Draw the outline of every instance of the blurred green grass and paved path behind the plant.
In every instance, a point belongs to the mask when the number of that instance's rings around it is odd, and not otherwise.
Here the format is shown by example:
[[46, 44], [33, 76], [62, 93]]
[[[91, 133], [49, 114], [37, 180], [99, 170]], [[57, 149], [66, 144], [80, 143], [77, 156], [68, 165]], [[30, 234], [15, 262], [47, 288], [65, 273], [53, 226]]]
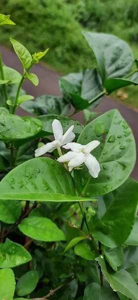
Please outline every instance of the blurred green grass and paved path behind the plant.
[[[24, 85], [27, 93], [35, 97], [60, 95], [59, 73], [96, 66], [82, 30], [117, 35], [130, 44], [138, 58], [138, 0], [0, 0], [0, 13], [10, 14], [16, 23], [16, 26], [0, 26], [0, 50], [5, 64], [21, 71], [18, 58], [8, 50], [12, 48], [9, 36], [23, 43], [31, 53], [50, 48], [43, 63], [32, 69], [40, 84]], [[138, 87], [129, 86], [112, 93], [95, 110], [105, 112], [112, 108], [118, 108], [126, 118], [138, 144]], [[81, 114], [74, 118], [82, 121]], [[138, 179], [137, 173], [135, 168], [133, 176]]]

